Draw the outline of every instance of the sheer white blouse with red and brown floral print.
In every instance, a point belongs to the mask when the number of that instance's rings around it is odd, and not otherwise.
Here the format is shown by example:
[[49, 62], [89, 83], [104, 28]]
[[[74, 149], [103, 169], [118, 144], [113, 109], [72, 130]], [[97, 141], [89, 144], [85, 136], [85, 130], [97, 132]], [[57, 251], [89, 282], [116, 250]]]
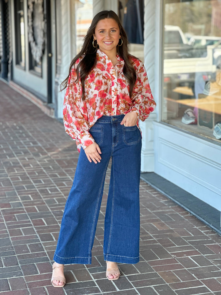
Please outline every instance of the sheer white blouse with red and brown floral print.
[[80, 79], [74, 84], [76, 67], [83, 56], [72, 67], [64, 97], [65, 131], [76, 140], [78, 151], [81, 146], [86, 148], [95, 142], [89, 129], [101, 116], [116, 116], [134, 111], [138, 121], [144, 121], [156, 107], [144, 65], [138, 58], [131, 56], [137, 80], [130, 98], [130, 86], [123, 74], [124, 60], [117, 55], [118, 64], [113, 66], [100, 49], [97, 49], [96, 56], [97, 64], [85, 80], [85, 100], [81, 99]]

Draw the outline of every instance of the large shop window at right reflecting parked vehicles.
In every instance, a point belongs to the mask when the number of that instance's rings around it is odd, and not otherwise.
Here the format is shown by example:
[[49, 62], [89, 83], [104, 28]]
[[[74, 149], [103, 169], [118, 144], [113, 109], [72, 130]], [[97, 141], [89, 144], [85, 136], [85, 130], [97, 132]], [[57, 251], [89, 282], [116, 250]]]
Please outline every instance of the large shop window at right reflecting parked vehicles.
[[162, 120], [221, 141], [221, 2], [164, 0]]

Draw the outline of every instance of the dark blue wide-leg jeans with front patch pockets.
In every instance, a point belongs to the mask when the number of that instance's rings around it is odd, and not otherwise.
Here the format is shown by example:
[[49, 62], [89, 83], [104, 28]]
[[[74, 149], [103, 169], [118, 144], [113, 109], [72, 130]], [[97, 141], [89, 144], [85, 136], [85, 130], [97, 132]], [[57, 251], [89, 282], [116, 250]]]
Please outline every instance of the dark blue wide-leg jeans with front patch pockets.
[[101, 161], [90, 163], [81, 148], [73, 186], [61, 222], [54, 261], [91, 264], [91, 249], [112, 157], [104, 225], [104, 260], [139, 262], [139, 183], [141, 133], [137, 126], [120, 125], [124, 115], [102, 116], [90, 128], [101, 149]]

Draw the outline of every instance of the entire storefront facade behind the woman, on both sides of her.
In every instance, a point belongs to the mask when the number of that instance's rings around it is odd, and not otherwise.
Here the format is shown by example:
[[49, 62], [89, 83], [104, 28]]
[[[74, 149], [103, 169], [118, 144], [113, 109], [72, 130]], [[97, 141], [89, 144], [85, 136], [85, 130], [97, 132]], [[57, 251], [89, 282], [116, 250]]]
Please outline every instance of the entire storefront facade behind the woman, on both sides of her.
[[0, 75], [56, 118], [62, 118], [60, 83], [93, 15], [114, 10], [130, 52], [144, 61], [157, 102], [140, 122], [141, 170], [221, 211], [219, 0], [0, 2]]

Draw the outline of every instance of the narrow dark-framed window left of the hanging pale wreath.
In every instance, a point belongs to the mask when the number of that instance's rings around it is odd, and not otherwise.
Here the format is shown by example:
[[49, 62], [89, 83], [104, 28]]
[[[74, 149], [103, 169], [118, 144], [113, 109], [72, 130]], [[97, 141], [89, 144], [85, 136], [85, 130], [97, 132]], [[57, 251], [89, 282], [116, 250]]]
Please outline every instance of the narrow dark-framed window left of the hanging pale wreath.
[[16, 64], [25, 68], [25, 26], [23, 0], [15, 0]]

